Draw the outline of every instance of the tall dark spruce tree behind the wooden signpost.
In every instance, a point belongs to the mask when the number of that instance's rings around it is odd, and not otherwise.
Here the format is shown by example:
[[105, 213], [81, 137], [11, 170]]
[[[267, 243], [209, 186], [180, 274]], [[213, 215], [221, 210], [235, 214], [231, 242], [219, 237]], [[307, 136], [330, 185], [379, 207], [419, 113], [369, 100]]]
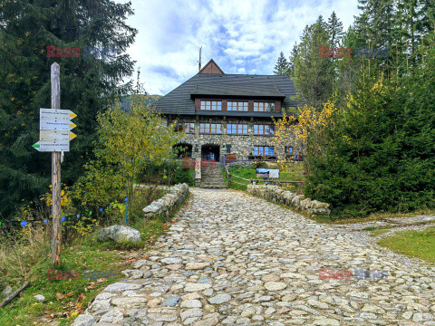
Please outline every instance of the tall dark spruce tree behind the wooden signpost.
[[[125, 23], [130, 3], [5, 0], [1, 9], [0, 216], [6, 217], [22, 200], [37, 200], [49, 190], [51, 156], [32, 145], [39, 139], [39, 109], [51, 103], [51, 64], [61, 65], [61, 108], [78, 115], [78, 137], [62, 167], [62, 182], [71, 185], [92, 156], [97, 113], [131, 89], [121, 82], [133, 72], [126, 51], [137, 31]], [[55, 53], [63, 57], [48, 57], [47, 46], [62, 49]], [[80, 48], [80, 56], [72, 48]], [[100, 51], [88, 51], [94, 48]], [[116, 56], [102, 49], [116, 49]]]

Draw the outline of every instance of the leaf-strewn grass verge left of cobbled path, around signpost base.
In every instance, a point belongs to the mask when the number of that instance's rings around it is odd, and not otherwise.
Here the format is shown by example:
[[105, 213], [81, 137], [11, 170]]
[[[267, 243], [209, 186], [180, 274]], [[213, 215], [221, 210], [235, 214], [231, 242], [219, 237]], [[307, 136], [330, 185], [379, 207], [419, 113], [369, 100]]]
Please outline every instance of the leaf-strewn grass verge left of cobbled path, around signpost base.
[[[24, 283], [23, 279], [31, 281], [31, 285], [13, 302], [0, 309], [0, 325], [46, 325], [49, 321], [59, 321], [62, 326], [70, 325], [79, 313], [86, 310], [102, 288], [123, 279], [125, 276], [121, 271], [129, 269], [132, 262], [145, 256], [146, 250], [167, 231], [170, 219], [171, 217], [169, 219], [156, 217], [131, 225], [140, 231], [142, 241], [139, 244], [98, 243], [97, 232], [93, 232], [76, 239], [73, 245], [65, 246], [62, 253], [62, 267], [59, 268], [61, 273], [56, 273], [58, 276], [66, 276], [65, 271], [78, 271], [78, 279], [68, 280], [67, 278], [70, 277], [65, 277], [64, 280], [49, 280], [47, 270], [53, 269], [53, 266], [47, 254], [43, 254], [43, 258], [32, 265], [25, 275], [22, 271], [21, 274], [20, 271], [14, 271], [13, 266], [5, 268], [2, 271], [7, 275], [0, 275], [0, 278], [3, 278], [4, 285], [9, 283], [13, 291]], [[41, 250], [49, 253], [48, 246], [49, 243]], [[129, 253], [129, 250], [135, 252]], [[4, 253], [7, 252], [5, 250], [0, 252], [2, 262], [7, 259]], [[83, 270], [106, 273], [113, 271], [116, 279], [114, 277], [110, 277], [109, 280], [85, 279]], [[17, 280], [14, 283], [11, 282], [13, 276]], [[45, 302], [37, 302], [34, 298], [35, 294], [43, 294]]]

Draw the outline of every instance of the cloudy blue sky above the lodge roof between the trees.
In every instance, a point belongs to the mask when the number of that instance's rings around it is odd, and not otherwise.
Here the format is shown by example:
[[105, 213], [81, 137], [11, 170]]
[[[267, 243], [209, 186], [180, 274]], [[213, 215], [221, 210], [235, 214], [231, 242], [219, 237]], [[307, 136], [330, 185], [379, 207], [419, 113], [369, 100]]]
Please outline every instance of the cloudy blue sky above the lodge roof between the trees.
[[[125, 0], [116, 0], [125, 3]], [[139, 30], [129, 53], [151, 94], [165, 95], [214, 59], [226, 73], [273, 74], [306, 24], [333, 11], [346, 29], [356, 0], [131, 0], [127, 23]], [[135, 75], [136, 76], [136, 75]]]

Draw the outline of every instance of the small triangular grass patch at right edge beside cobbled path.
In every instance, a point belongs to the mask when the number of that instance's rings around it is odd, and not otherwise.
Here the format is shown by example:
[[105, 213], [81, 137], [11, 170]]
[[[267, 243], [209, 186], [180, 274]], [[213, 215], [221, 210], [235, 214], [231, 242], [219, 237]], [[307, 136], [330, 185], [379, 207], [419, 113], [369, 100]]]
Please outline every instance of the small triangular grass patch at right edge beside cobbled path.
[[435, 227], [422, 231], [404, 231], [379, 241], [392, 251], [435, 263]]

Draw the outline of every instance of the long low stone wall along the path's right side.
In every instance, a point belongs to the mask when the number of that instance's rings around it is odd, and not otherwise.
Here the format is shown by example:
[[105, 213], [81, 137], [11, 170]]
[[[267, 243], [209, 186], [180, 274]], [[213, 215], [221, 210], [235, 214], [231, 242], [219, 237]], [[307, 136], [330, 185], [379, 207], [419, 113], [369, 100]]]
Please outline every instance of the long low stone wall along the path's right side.
[[304, 195], [297, 195], [277, 186], [270, 185], [248, 185], [247, 192], [253, 196], [267, 199], [275, 204], [293, 206], [296, 209], [304, 210], [310, 216], [329, 216], [331, 210], [329, 204], [305, 198]]

